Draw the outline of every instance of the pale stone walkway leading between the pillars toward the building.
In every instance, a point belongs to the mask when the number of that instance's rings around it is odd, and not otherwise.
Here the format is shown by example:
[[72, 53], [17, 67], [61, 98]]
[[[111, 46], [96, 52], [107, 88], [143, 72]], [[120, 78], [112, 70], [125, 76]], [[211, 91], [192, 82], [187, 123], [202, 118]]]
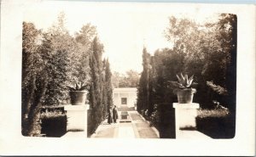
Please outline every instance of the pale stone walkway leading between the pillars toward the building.
[[131, 122], [119, 120], [118, 123], [109, 125], [106, 120], [102, 123], [102, 125], [98, 126], [96, 133], [91, 137], [159, 138], [156, 129], [154, 129], [154, 127], [150, 127], [148, 122], [144, 121], [143, 117], [139, 115], [137, 111], [128, 111], [128, 114], [128, 119]]

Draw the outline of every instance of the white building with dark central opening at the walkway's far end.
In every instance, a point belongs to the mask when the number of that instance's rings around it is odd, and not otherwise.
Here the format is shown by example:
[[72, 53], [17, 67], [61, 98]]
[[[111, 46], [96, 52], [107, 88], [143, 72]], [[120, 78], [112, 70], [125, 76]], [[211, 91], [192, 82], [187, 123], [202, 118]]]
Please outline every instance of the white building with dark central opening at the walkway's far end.
[[135, 107], [137, 104], [137, 88], [136, 87], [120, 87], [113, 89], [113, 105], [118, 108]]

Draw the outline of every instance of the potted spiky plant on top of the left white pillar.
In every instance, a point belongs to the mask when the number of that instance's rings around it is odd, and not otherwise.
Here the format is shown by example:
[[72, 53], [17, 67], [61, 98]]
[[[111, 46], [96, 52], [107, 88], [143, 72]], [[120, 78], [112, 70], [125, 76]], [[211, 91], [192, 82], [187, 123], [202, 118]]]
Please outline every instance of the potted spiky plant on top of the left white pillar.
[[69, 88], [70, 101], [73, 105], [85, 104], [87, 85], [81, 81], [76, 81], [73, 87], [67, 86]]

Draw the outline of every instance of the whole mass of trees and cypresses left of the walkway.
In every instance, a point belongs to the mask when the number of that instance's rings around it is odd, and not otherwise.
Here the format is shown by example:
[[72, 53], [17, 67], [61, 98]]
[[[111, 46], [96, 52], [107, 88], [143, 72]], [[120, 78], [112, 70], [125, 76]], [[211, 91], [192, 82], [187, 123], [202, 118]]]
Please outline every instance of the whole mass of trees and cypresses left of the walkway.
[[[44, 105], [69, 103], [67, 85], [74, 80], [90, 88], [87, 103], [92, 109], [94, 129], [112, 105], [111, 71], [102, 60], [103, 45], [94, 25], [83, 25], [75, 35], [65, 27], [65, 14], [47, 31], [23, 22], [22, 31], [22, 134], [38, 134], [39, 110]], [[90, 121], [90, 120], [89, 120]]]

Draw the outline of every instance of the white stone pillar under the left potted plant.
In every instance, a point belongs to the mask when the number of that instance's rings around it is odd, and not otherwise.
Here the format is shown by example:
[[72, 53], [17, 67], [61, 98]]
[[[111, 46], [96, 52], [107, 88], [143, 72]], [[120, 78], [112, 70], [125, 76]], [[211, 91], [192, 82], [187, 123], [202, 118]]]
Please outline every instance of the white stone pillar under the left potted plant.
[[83, 132], [87, 137], [87, 109], [89, 104], [65, 105], [67, 111], [67, 132]]

